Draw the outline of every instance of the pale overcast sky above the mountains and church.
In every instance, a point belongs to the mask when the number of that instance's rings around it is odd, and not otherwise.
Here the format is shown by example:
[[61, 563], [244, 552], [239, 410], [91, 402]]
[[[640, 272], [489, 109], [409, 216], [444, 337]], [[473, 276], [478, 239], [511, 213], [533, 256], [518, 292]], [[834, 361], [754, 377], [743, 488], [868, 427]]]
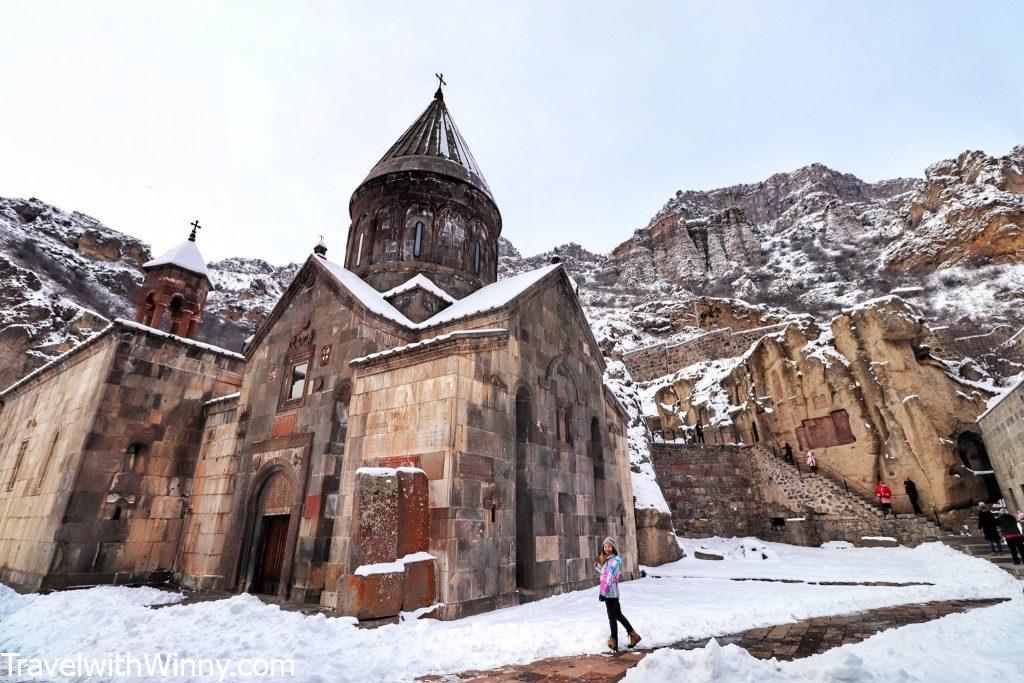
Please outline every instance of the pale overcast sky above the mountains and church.
[[0, 4], [0, 196], [285, 263], [445, 101], [523, 253], [607, 251], [677, 189], [867, 180], [1024, 143], [1024, 3]]

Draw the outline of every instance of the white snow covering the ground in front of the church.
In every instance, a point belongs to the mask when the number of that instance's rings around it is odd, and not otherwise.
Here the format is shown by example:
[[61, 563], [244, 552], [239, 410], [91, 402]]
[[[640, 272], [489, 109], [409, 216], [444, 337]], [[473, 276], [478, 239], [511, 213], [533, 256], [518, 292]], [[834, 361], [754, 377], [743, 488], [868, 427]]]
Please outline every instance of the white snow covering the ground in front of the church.
[[[946, 656], [945, 652], [952, 649], [949, 643], [957, 639], [956, 648], [962, 652], [972, 642], [982, 643], [987, 652], [985, 648], [994, 648], [1001, 641], [1020, 659], [1024, 649], [1019, 645], [1024, 628], [1020, 584], [984, 560], [939, 544], [911, 550], [853, 549], [842, 545], [797, 548], [753, 539], [682, 543], [689, 551], [703, 545], [722, 552], [726, 559], [687, 557], [652, 568], [651, 577], [623, 585], [624, 611], [647, 646], [900, 603], [1013, 597], [1005, 605], [906, 627], [895, 635], [882, 634], [861, 645], [840, 648], [843, 653], [825, 653], [805, 661], [828, 663], [831, 678], [849, 670], [870, 680], [867, 674], [876, 671], [878, 663], [854, 661], [845, 652], [871, 648], [865, 650], [869, 656], [893, 661], [899, 658], [899, 666], [909, 672], [926, 671], [926, 667], [932, 671], [933, 665], [925, 659]], [[763, 555], [768, 559], [762, 559]], [[731, 577], [935, 585], [819, 586], [734, 582], [728, 580]], [[46, 659], [78, 653], [95, 658], [117, 653], [172, 653], [221, 660], [281, 657], [294, 660], [295, 678], [287, 680], [384, 681], [600, 652], [607, 638], [607, 623], [596, 589], [456, 622], [420, 620], [372, 630], [357, 629], [347, 618], [282, 611], [250, 595], [160, 609], [147, 606], [175, 599], [174, 594], [154, 589], [100, 587], [23, 596], [0, 588], [0, 651]], [[934, 647], [931, 635], [919, 636], [904, 647], [904, 639], [898, 634], [910, 629], [914, 633], [934, 632]], [[989, 637], [988, 630], [994, 635]], [[872, 644], [877, 639], [882, 639], [883, 644]], [[885, 644], [890, 641], [892, 644]], [[902, 649], [893, 649], [896, 644]], [[770, 676], [807, 676], [811, 671], [807, 667], [813, 668], [806, 663], [776, 668], [749, 658], [744, 652], [718, 650], [715, 646], [693, 653], [655, 653], [633, 676], [665, 680], [666, 672], [678, 669], [686, 676], [763, 680]], [[1002, 669], [985, 673], [1005, 673], [1007, 667], [1016, 665], [999, 666]], [[978, 669], [969, 676], [982, 673]], [[672, 678], [680, 680], [682, 675]]]

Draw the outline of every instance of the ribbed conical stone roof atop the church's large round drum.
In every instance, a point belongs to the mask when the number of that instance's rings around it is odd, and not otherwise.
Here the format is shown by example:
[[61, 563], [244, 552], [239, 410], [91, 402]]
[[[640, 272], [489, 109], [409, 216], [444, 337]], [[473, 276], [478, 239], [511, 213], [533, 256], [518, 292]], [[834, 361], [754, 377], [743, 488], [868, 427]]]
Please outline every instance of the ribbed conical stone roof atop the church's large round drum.
[[476, 187], [492, 202], [495, 199], [439, 92], [359, 184], [401, 171], [447, 175]]

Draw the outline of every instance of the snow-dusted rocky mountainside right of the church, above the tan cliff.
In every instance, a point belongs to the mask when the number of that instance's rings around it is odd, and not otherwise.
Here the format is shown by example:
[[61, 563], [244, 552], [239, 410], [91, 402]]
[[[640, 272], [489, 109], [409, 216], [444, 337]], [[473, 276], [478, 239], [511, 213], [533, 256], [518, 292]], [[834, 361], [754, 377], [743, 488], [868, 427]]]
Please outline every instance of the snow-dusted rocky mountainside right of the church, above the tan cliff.
[[[932, 165], [924, 179], [868, 183], [813, 164], [759, 183], [681, 190], [608, 255], [579, 245], [525, 259], [506, 250], [501, 268], [517, 272], [560, 257], [606, 352], [685, 338], [679, 315], [668, 324], [664, 313], [700, 297], [824, 321], [897, 293], [943, 328], [945, 351], [985, 355], [976, 343], [955, 341], [1024, 327], [1022, 169], [1024, 145], [1001, 158], [966, 152]], [[1015, 372], [996, 362], [997, 352], [987, 354], [979, 360]]]

